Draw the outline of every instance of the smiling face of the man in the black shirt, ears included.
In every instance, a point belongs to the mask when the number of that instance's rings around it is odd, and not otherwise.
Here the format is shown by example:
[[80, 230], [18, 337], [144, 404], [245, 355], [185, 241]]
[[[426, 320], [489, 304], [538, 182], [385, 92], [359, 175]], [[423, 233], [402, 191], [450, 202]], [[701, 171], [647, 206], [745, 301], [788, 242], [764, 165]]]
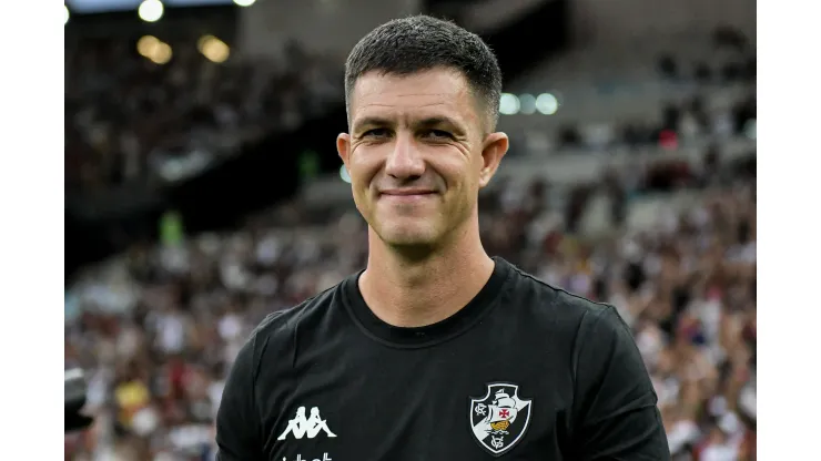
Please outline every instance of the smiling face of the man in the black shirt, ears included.
[[356, 207], [393, 246], [436, 246], [462, 228], [507, 151], [504, 133], [484, 135], [485, 112], [452, 70], [366, 73], [348, 116], [337, 151]]

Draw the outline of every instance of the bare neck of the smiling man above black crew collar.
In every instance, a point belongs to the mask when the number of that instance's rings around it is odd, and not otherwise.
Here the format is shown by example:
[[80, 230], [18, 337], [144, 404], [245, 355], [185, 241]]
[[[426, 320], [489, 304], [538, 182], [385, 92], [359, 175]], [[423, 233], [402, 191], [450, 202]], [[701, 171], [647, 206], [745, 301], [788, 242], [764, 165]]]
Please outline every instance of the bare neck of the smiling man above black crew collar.
[[442, 321], [465, 307], [485, 286], [494, 262], [482, 247], [478, 222], [457, 229], [444, 247], [408, 255], [368, 229], [367, 268], [359, 290], [371, 310], [395, 327]]

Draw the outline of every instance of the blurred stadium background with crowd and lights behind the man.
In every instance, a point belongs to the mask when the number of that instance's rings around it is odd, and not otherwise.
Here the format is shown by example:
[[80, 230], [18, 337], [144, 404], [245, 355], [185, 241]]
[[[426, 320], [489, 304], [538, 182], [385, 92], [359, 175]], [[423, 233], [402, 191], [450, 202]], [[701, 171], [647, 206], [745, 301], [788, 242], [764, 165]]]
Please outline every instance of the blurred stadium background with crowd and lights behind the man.
[[505, 74], [488, 253], [619, 309], [677, 459], [756, 458], [754, 0], [74, 0], [67, 460], [213, 459], [251, 328], [364, 267], [343, 62], [419, 12]]

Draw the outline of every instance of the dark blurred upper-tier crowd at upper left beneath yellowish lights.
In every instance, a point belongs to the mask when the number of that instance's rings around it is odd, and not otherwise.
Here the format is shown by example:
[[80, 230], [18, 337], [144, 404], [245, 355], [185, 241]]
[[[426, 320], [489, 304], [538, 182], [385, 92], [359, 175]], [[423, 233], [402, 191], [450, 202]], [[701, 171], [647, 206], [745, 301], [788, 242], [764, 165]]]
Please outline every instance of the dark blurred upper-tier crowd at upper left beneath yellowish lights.
[[180, 180], [316, 116], [342, 92], [338, 64], [296, 43], [284, 60], [231, 60], [213, 35], [199, 50], [181, 42], [94, 38], [65, 50], [67, 191]]

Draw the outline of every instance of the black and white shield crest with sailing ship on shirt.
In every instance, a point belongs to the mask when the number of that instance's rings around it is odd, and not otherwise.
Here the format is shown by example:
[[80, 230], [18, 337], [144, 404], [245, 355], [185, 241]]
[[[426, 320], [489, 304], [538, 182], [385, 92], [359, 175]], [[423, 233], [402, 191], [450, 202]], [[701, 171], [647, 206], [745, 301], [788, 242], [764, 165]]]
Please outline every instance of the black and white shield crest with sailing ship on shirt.
[[533, 400], [521, 400], [519, 387], [509, 383], [487, 385], [483, 398], [470, 399], [470, 426], [474, 437], [490, 454], [510, 450], [527, 431]]

